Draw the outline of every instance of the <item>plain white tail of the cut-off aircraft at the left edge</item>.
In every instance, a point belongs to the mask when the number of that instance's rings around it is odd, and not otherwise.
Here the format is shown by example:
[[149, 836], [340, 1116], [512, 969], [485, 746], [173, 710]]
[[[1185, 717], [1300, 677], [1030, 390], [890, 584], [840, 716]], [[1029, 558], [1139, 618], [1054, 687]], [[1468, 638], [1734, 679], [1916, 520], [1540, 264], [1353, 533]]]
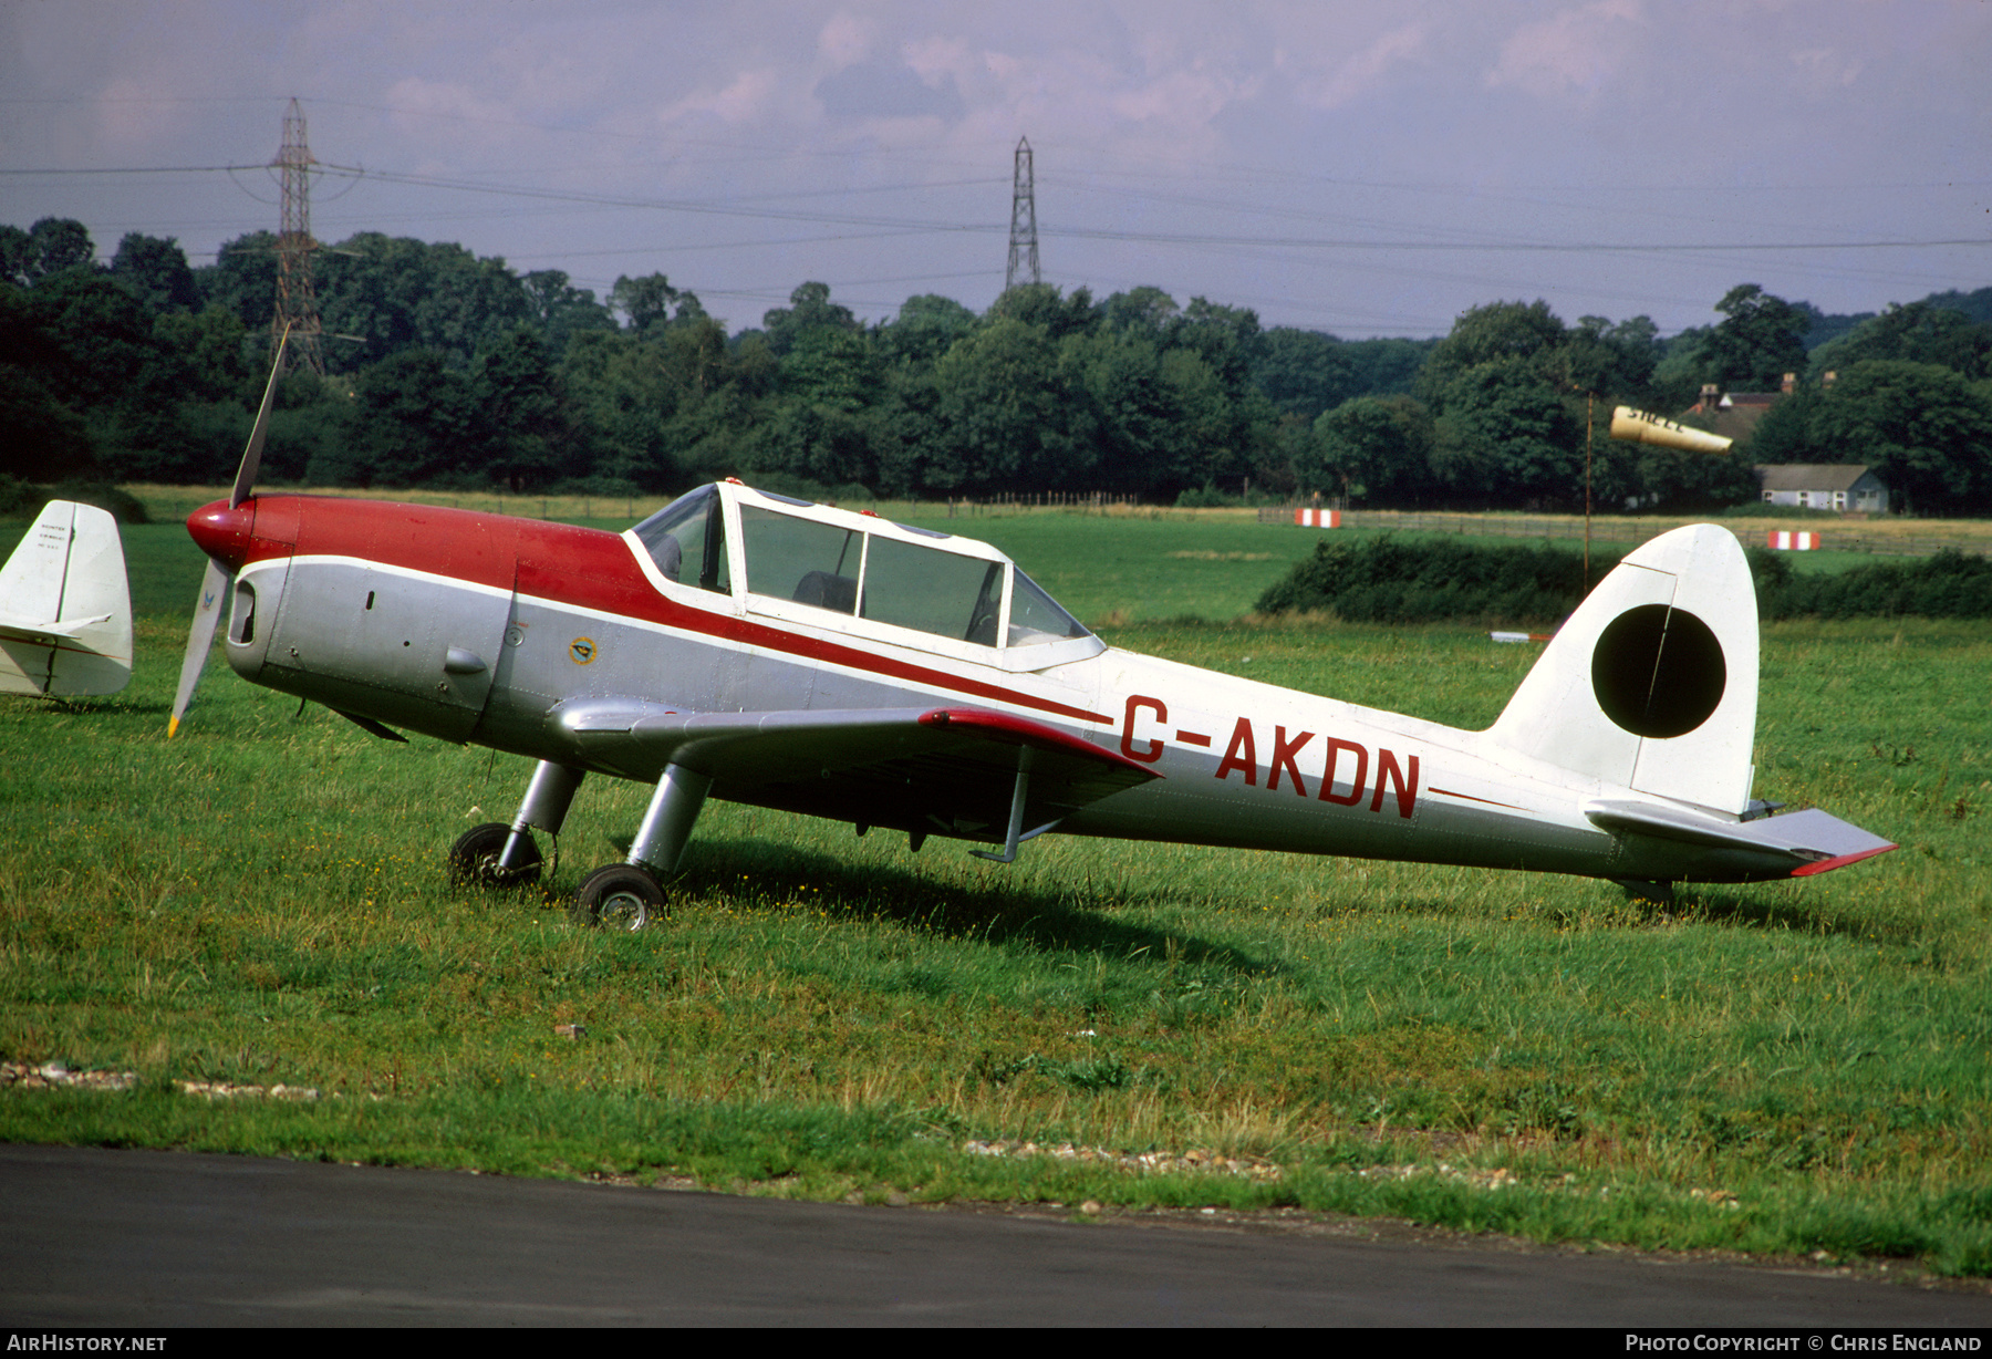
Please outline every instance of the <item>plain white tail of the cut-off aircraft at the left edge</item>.
[[131, 680], [118, 520], [50, 500], [0, 566], [0, 693], [116, 693]]

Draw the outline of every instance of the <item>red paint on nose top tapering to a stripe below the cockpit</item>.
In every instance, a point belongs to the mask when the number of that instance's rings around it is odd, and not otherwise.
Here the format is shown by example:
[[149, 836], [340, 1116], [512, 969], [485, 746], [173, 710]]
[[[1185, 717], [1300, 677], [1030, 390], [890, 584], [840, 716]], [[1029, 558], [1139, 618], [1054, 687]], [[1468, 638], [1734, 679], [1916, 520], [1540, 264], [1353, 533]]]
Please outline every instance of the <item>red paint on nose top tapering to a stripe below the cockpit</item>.
[[[572, 604], [683, 632], [699, 632], [767, 652], [785, 652], [801, 660], [849, 666], [952, 693], [972, 693], [1080, 721], [1112, 723], [1112, 717], [1090, 713], [1084, 707], [1070, 707], [1004, 685], [912, 666], [857, 646], [803, 638], [733, 614], [685, 608], [663, 598], [649, 584], [649, 578], [629, 556], [629, 544], [620, 534], [600, 528], [394, 500], [347, 500], [343, 496], [263, 496], [249, 504], [257, 506], [257, 532], [249, 546], [249, 562], [285, 556], [351, 556], [380, 566], [446, 576], [472, 586], [516, 590], [520, 596], [552, 604]], [[261, 532], [265, 516], [295, 534], [295, 550], [291, 544]]]

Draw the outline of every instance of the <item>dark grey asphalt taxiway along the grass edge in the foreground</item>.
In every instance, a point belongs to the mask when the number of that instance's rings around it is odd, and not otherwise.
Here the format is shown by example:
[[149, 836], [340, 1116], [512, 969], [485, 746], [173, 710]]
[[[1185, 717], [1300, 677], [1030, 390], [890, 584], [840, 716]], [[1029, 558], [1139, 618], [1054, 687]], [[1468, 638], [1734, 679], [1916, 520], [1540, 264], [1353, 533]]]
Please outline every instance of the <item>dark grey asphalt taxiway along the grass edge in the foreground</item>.
[[1992, 1327], [1831, 1271], [0, 1146], [0, 1325]]

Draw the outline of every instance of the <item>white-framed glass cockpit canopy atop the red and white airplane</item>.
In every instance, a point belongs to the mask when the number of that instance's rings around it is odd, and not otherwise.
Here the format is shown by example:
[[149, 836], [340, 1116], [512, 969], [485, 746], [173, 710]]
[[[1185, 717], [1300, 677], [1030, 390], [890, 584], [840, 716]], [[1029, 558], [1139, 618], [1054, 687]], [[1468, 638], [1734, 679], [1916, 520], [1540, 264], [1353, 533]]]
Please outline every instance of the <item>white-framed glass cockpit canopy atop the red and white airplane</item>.
[[1004, 670], [1106, 644], [996, 548], [741, 484], [699, 486], [629, 534], [663, 580], [767, 614]]

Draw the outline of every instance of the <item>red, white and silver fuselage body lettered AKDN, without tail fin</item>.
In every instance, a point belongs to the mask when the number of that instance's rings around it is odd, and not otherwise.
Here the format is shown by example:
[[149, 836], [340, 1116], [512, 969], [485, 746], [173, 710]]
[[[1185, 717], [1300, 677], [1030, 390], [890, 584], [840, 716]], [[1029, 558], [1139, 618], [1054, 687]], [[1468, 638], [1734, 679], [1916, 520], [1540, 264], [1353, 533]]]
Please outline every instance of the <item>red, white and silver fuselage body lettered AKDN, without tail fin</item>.
[[[237, 572], [225, 648], [245, 680], [578, 769], [657, 777], [562, 727], [562, 707], [592, 699], [697, 713], [982, 707], [1157, 775], [1076, 811], [1058, 833], [1610, 879], [1791, 871], [1747, 849], [1606, 831], [1584, 803], [1637, 797], [1631, 789], [1572, 777], [1484, 733], [1098, 642], [1042, 648], [1050, 664], [1040, 668], [1018, 648], [986, 648], [982, 662], [960, 640], [759, 600], [737, 530], [727, 590], [673, 580], [633, 530], [434, 506], [257, 496], [235, 510], [207, 506], [189, 530]], [[970, 546], [978, 562], [1008, 566]], [[713, 793], [896, 825], [833, 785], [757, 797], [721, 777]]]

